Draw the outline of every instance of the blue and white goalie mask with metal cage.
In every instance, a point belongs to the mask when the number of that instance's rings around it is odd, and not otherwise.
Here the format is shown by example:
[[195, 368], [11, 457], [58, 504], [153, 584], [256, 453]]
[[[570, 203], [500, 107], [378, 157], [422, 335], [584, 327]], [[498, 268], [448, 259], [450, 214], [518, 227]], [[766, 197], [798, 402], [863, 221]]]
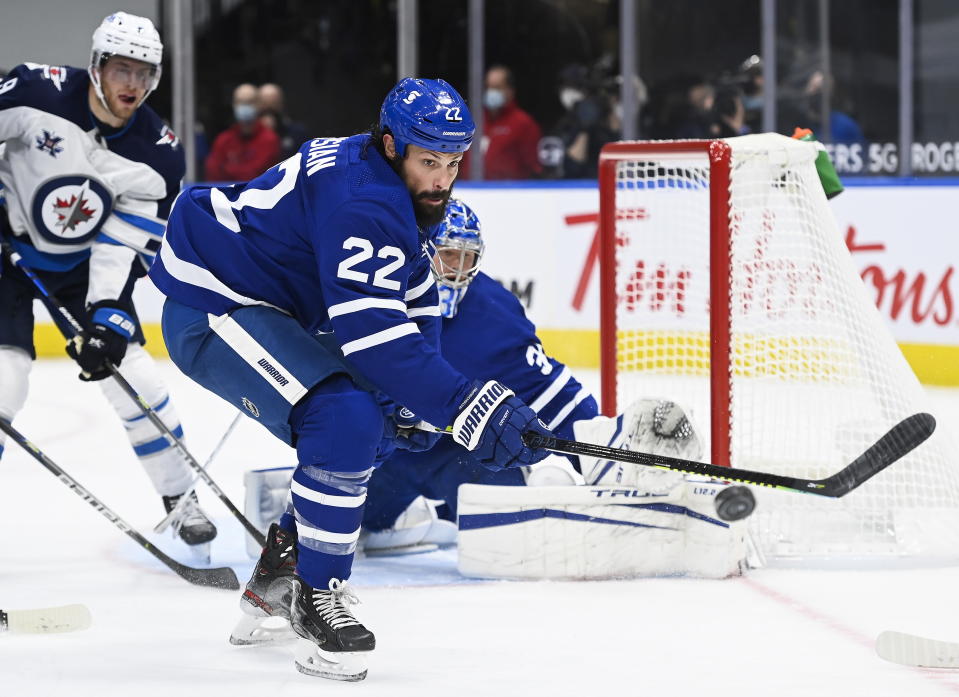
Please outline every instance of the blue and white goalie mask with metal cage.
[[486, 247], [476, 213], [459, 199], [450, 199], [446, 217], [433, 237], [433, 247], [430, 266], [440, 294], [440, 314], [454, 317], [470, 282], [479, 273]]

